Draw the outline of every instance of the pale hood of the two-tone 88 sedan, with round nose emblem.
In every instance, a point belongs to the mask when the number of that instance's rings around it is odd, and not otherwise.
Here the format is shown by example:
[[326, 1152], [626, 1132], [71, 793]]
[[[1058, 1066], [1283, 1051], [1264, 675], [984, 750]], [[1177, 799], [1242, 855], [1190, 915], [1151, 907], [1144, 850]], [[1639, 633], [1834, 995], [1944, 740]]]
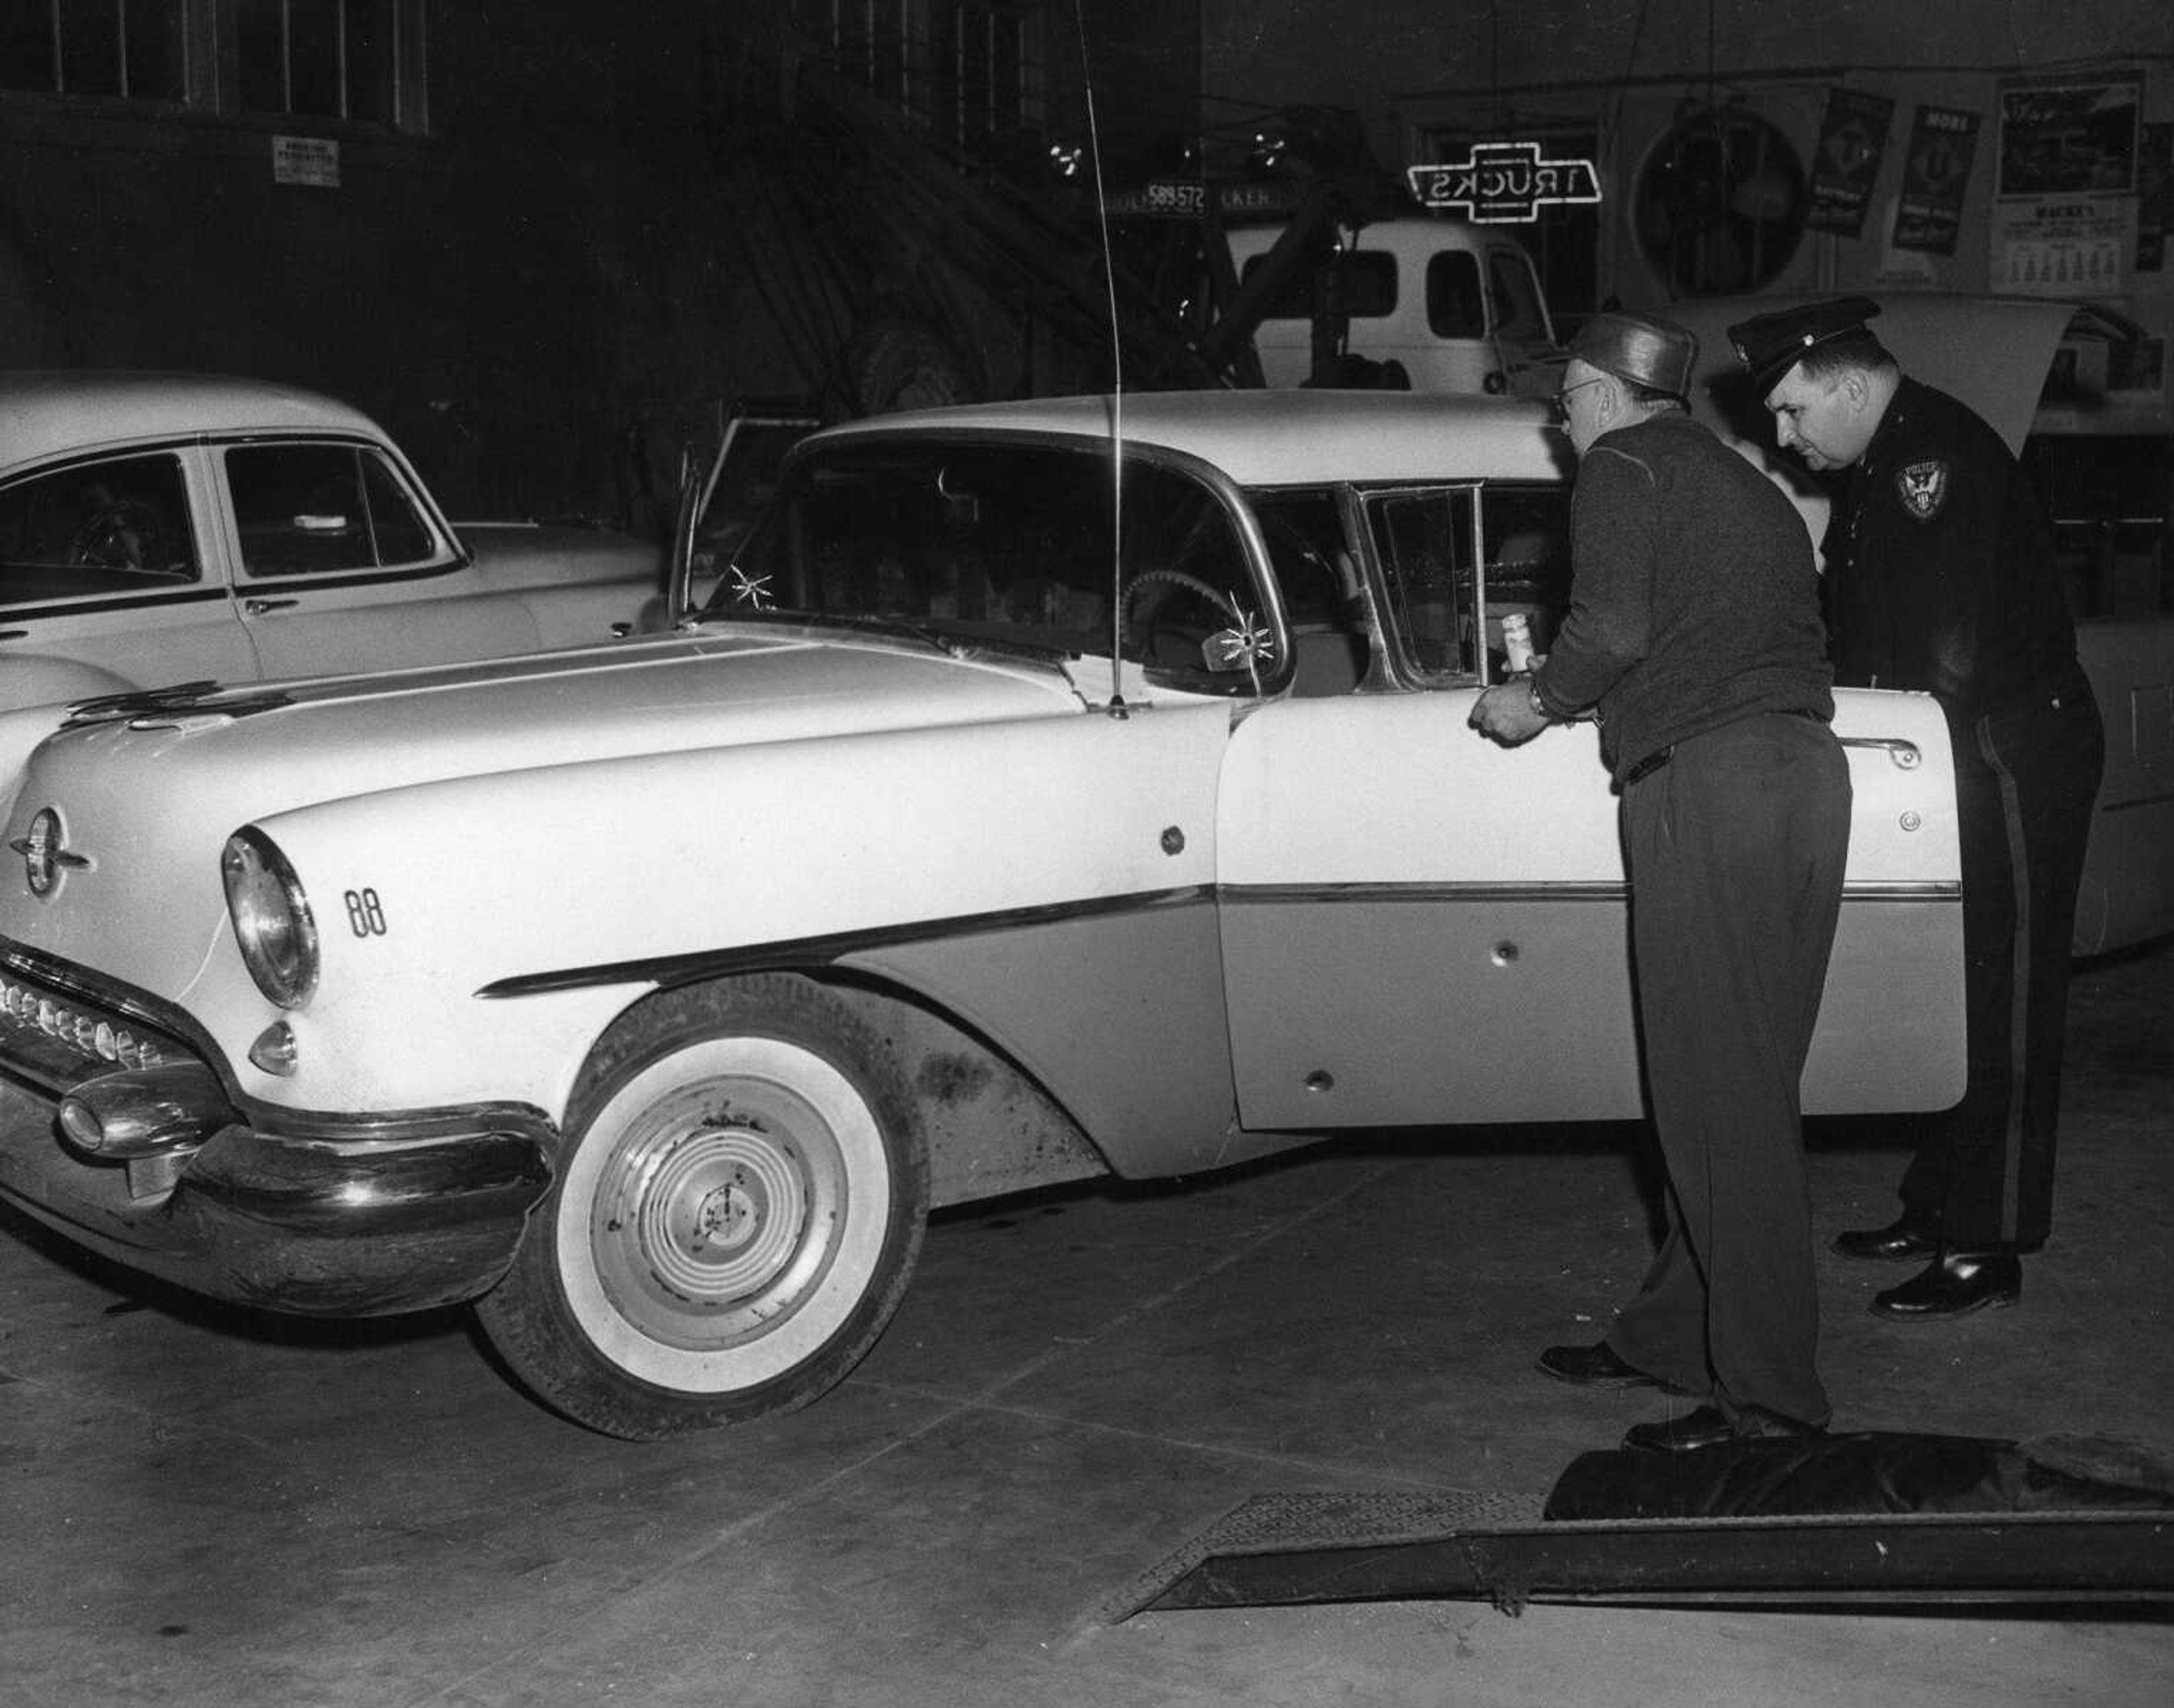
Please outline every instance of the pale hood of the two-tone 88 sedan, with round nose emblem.
[[[224, 931], [220, 851], [250, 822], [411, 783], [759, 742], [1080, 716], [1044, 664], [907, 642], [672, 635], [461, 668], [126, 696], [30, 755], [0, 844], [52, 807], [76, 866], [35, 896], [0, 859], [0, 936], [178, 997]], [[133, 716], [130, 716], [133, 714]]]

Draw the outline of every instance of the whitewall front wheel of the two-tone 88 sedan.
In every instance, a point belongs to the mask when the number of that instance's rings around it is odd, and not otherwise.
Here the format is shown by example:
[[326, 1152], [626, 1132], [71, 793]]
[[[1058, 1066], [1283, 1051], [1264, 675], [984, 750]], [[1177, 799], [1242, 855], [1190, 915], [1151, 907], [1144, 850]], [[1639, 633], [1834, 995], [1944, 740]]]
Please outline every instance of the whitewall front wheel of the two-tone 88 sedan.
[[926, 1214], [911, 1092], [837, 997], [791, 975], [672, 990], [598, 1042], [552, 1190], [476, 1314], [591, 1429], [741, 1423], [861, 1362]]

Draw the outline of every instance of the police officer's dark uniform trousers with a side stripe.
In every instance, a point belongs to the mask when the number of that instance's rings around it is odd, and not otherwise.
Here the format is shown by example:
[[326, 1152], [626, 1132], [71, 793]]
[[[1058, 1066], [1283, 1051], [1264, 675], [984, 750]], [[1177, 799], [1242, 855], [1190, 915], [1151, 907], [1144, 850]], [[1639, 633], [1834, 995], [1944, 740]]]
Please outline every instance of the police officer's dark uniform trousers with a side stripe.
[[2037, 1247], [2052, 1227], [2076, 881], [2104, 762], [2081, 672], [1954, 725], [1970, 1088], [1926, 1121], [1902, 1175], [1904, 1208], [1950, 1251]]

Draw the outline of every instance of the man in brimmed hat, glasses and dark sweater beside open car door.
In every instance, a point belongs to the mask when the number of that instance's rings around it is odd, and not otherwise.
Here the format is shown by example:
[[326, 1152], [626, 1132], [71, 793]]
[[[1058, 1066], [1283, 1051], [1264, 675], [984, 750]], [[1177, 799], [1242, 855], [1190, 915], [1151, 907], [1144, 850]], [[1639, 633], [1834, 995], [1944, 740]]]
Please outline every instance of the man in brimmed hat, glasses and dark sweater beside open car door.
[[1811, 537], [1685, 413], [1696, 352], [1685, 329], [1628, 313], [1570, 346], [1570, 616], [1533, 677], [1472, 707], [1504, 744], [1594, 709], [1622, 790], [1670, 1223], [1607, 1338], [1548, 1347], [1539, 1369], [1707, 1397], [1626, 1436], [1661, 1449], [1828, 1421], [1798, 1084], [1850, 840]]

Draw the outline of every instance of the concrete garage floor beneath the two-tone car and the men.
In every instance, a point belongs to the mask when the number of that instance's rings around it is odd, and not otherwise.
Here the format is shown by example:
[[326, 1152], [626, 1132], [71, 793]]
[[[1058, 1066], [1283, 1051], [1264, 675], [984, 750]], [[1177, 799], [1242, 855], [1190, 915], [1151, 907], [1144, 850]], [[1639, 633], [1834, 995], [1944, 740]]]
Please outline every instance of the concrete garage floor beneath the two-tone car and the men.
[[[2174, 1462], [2174, 944], [2085, 966], [2061, 1210], [2020, 1310], [1863, 1312], [1837, 1427], [2094, 1434]], [[267, 1325], [0, 1232], [9, 1704], [2150, 1704], [2174, 1617], [1470, 1601], [1152, 1612], [1124, 1586], [1272, 1490], [1535, 1503], [1661, 1401], [1533, 1371], [1648, 1251], [1624, 1134], [1344, 1144], [946, 1216], [837, 1393], [663, 1447], [513, 1393], [459, 1316]], [[1822, 1232], [1891, 1134], [1820, 1127]]]

